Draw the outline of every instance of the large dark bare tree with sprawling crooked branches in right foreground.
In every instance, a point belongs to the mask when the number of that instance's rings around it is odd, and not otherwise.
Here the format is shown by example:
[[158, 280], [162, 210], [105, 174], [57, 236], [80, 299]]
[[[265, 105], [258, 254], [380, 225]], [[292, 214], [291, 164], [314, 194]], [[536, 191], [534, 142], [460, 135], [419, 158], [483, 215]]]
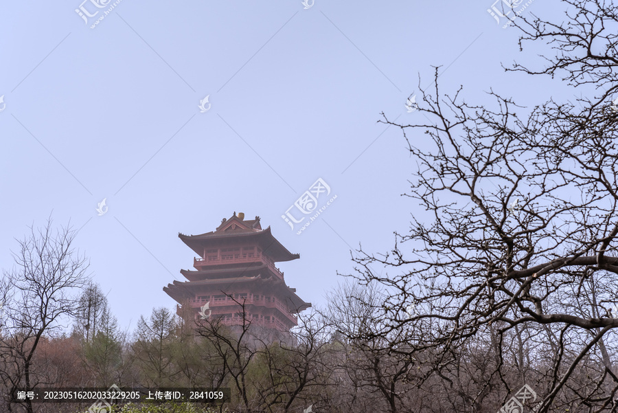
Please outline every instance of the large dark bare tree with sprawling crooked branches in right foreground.
[[[436, 69], [420, 122], [383, 120], [404, 133], [418, 165], [409, 197], [426, 213], [390, 252], [356, 260], [356, 276], [387, 291], [383, 326], [358, 338], [409, 329], [387, 347], [431, 354], [442, 379], [457, 373], [453, 355], [488, 343], [497, 362], [485, 384], [504, 389], [488, 411], [524, 383], [542, 396], [540, 412], [618, 410], [618, 6], [562, 5], [562, 19], [518, 17], [522, 47], [545, 42], [556, 54], [543, 69], [512, 70], [564, 74], [565, 88], [588, 97], [527, 109], [492, 91], [492, 109], [464, 102], [463, 89], [441, 94]], [[425, 135], [409, 137], [417, 129]], [[396, 274], [374, 274], [378, 264]], [[409, 305], [418, 312], [405, 315]], [[464, 408], [479, 408], [485, 390]]]

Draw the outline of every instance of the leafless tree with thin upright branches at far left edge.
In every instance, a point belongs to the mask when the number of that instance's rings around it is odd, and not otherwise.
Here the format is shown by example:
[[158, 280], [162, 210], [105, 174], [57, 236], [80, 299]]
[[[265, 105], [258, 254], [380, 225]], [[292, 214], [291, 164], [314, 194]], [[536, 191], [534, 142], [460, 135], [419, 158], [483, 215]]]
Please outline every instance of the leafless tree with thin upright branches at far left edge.
[[[78, 293], [87, 283], [88, 263], [73, 248], [76, 233], [69, 227], [54, 230], [52, 219], [41, 229], [30, 227], [15, 267], [5, 271], [0, 284], [3, 324], [0, 334], [0, 379], [7, 391], [9, 410], [16, 405], [17, 388], [32, 390], [47, 383], [37, 375], [34, 357], [46, 335], [57, 331], [79, 309]], [[23, 408], [32, 413], [32, 403]]]

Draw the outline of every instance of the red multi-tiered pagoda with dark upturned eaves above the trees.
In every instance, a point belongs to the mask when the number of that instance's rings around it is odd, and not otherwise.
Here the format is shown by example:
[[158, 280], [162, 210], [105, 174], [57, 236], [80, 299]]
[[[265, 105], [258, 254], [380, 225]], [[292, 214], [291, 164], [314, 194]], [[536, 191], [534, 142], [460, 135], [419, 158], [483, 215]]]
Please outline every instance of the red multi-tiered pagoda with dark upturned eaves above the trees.
[[212, 232], [178, 236], [198, 255], [195, 270], [182, 269], [187, 281], [174, 281], [163, 291], [179, 302], [177, 312], [185, 320], [218, 318], [228, 326], [250, 322], [288, 333], [298, 324], [295, 314], [311, 306], [286, 285], [284, 273], [275, 267], [299, 254], [281, 245], [271, 227], [262, 230], [259, 216], [245, 220], [244, 214], [234, 212]]

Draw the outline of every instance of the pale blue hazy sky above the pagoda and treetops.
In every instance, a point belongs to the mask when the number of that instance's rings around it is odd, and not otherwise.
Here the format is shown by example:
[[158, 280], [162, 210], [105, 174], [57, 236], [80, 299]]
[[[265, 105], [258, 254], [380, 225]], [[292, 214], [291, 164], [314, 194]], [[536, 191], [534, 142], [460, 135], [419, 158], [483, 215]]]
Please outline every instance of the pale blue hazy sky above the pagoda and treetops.
[[[178, 233], [234, 211], [301, 255], [279, 268], [317, 305], [353, 271], [351, 249], [391, 249], [423, 211], [401, 196], [415, 162], [400, 129], [377, 121], [418, 122], [404, 105], [419, 76], [433, 87], [432, 66], [468, 102], [490, 89], [530, 105], [572, 96], [504, 72], [538, 59], [490, 16], [492, 0], [122, 0], [106, 15], [113, 1], [80, 1], [0, 2], [0, 267], [28, 225], [70, 221], [124, 328], [174, 306], [162, 288], [194, 258]], [[281, 216], [319, 178], [336, 199], [298, 235]]]

